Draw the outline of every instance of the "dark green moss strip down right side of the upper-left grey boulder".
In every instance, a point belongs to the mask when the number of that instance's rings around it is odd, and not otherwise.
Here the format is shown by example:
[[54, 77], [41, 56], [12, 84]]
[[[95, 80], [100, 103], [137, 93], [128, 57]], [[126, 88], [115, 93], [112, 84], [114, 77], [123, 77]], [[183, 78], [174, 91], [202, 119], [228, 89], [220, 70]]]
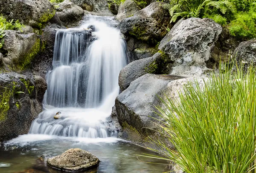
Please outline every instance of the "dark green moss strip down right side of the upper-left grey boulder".
[[35, 56], [41, 51], [41, 41], [38, 38], [33, 45], [33, 47], [29, 50], [29, 52], [24, 56], [23, 61], [19, 63], [18, 67], [20, 70], [24, 70], [27, 65], [35, 58]]

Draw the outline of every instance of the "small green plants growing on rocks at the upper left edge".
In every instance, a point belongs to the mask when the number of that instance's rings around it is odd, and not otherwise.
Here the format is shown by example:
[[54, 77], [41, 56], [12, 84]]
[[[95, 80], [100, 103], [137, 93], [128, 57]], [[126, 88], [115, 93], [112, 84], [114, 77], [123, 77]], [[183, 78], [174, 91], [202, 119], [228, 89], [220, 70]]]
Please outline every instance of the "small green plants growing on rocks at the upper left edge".
[[13, 21], [9, 20], [7, 21], [6, 18], [0, 14], [0, 48], [3, 47], [3, 37], [5, 36], [5, 30], [20, 30], [22, 31], [22, 28], [24, 26], [19, 22], [19, 20]]

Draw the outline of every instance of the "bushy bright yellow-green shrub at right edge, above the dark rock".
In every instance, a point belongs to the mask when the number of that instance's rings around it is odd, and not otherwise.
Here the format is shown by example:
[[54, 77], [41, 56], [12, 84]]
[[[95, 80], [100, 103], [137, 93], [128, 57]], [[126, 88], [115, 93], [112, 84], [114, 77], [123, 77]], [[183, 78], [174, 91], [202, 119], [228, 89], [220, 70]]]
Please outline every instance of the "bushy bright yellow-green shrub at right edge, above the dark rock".
[[241, 40], [250, 40], [256, 37], [256, 12], [239, 12], [236, 19], [230, 22], [230, 34]]

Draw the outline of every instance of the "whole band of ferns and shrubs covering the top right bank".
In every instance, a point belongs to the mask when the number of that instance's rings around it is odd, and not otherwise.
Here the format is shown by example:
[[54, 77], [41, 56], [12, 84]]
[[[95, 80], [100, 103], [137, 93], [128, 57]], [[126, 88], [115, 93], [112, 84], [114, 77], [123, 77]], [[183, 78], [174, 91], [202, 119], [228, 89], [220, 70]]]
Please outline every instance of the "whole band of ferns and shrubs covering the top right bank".
[[211, 18], [239, 40], [256, 37], [256, 0], [169, 0], [171, 22], [185, 17]]

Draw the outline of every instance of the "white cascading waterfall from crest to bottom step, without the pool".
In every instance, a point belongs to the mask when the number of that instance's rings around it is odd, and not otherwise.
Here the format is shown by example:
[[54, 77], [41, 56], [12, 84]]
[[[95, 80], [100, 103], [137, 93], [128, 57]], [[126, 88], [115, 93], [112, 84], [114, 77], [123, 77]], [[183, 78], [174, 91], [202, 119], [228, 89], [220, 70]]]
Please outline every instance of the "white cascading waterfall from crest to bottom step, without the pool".
[[[126, 65], [126, 45], [111, 26], [111, 18], [102, 19], [90, 17], [80, 28], [57, 31], [45, 110], [29, 133], [87, 138], [113, 135], [108, 133], [106, 118], [119, 94], [118, 75]], [[89, 25], [95, 31], [84, 30]], [[53, 119], [57, 112], [61, 117]]]

